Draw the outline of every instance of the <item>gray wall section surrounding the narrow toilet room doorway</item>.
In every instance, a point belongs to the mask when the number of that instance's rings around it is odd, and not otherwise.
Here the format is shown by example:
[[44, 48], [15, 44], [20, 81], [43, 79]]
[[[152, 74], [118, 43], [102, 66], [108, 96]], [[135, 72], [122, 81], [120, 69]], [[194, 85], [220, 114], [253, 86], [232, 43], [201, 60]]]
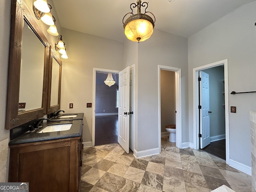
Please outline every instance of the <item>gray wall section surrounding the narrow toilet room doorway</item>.
[[158, 65], [181, 68], [182, 142], [188, 135], [188, 40], [154, 29], [152, 37], [138, 44], [138, 148], [157, 148], [158, 137]]

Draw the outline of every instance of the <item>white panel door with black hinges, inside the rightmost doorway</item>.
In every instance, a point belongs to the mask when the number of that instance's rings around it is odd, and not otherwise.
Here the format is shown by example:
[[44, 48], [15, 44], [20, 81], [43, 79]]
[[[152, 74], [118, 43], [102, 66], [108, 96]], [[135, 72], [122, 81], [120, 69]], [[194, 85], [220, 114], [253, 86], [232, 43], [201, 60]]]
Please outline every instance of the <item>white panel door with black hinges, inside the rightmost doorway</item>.
[[209, 74], [200, 71], [200, 148], [210, 144], [210, 99], [209, 99]]

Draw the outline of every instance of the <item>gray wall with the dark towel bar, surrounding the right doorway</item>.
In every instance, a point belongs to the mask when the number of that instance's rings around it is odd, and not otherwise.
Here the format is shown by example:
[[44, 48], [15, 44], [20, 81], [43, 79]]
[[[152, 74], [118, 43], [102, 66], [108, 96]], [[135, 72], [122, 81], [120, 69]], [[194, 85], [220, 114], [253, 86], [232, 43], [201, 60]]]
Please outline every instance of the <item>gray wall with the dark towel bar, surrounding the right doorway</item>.
[[[256, 2], [241, 6], [230, 14], [188, 38], [189, 130], [193, 142], [193, 76], [192, 69], [228, 59], [228, 90], [255, 91]], [[230, 159], [251, 166], [250, 115], [256, 109], [254, 94], [228, 95]]]

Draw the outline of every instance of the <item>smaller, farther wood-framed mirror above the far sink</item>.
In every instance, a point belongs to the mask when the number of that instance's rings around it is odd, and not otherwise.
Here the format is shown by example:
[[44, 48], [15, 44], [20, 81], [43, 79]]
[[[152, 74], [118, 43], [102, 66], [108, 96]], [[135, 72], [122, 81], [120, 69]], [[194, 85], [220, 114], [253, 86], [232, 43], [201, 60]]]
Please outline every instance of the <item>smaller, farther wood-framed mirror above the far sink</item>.
[[[50, 49], [47, 114], [60, 110], [60, 85], [62, 61], [53, 48]], [[49, 99], [50, 98], [50, 99]]]

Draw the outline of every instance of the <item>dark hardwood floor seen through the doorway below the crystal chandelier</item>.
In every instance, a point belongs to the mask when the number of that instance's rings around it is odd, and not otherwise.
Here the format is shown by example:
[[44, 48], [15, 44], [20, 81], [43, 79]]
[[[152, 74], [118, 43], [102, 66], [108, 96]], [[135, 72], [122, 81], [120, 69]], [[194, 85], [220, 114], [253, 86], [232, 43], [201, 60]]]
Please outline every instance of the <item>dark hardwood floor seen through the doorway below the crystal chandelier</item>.
[[117, 143], [118, 115], [95, 116], [95, 145]]

